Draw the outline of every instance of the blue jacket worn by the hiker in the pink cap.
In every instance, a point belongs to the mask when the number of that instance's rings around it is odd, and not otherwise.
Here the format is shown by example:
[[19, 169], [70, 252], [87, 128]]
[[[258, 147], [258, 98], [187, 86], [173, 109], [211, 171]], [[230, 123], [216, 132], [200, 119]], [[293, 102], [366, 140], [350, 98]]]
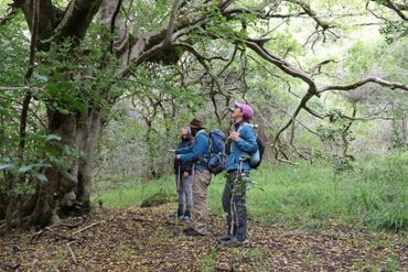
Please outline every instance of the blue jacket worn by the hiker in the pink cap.
[[[239, 130], [239, 141], [232, 142], [225, 168], [227, 172], [239, 170], [241, 162], [240, 170], [243, 172], [248, 172], [250, 171], [249, 161], [245, 159], [248, 157], [248, 154], [253, 154], [257, 151], [257, 137], [253, 126], [247, 122], [235, 123], [234, 126], [235, 131]], [[241, 128], [239, 129], [239, 127]], [[239, 159], [244, 159], [245, 161], [240, 161]]]

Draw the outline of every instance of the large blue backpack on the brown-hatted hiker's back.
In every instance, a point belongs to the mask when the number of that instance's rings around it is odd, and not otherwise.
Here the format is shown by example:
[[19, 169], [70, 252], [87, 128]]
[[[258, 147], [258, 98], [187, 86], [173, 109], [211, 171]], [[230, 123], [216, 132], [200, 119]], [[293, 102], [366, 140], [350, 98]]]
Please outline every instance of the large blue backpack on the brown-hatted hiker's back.
[[225, 134], [218, 129], [213, 129], [210, 132], [210, 157], [207, 166], [214, 175], [219, 174], [225, 168]]

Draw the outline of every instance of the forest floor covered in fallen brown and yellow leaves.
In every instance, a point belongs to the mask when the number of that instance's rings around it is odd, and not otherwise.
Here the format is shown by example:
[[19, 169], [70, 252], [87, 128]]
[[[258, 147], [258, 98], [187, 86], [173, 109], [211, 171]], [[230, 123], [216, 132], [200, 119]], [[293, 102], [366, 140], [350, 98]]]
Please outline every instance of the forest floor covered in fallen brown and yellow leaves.
[[249, 220], [251, 243], [216, 249], [224, 219], [186, 237], [175, 205], [97, 208], [42, 232], [0, 238], [0, 271], [408, 271], [406, 233], [333, 227], [290, 230]]

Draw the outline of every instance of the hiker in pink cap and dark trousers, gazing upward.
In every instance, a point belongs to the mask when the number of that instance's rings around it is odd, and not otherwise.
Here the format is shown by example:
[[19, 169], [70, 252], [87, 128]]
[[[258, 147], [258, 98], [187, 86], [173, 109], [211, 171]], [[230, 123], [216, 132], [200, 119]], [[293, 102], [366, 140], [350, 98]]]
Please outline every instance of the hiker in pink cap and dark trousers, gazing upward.
[[[249, 154], [257, 151], [256, 133], [248, 121], [253, 108], [246, 104], [235, 102], [232, 115], [234, 120], [229, 134], [229, 155], [226, 162], [227, 178], [223, 193], [223, 209], [227, 214], [227, 233], [218, 242], [234, 246], [247, 242], [247, 204], [246, 189], [249, 182]], [[227, 148], [228, 149], [228, 144]]]

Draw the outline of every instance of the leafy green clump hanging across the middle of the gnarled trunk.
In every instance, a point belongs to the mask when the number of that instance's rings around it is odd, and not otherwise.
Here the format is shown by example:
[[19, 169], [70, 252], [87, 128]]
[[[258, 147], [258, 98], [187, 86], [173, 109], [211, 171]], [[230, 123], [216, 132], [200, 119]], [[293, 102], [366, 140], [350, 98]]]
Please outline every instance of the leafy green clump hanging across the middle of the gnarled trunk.
[[[37, 53], [43, 62], [36, 68], [34, 83], [44, 87], [46, 93], [35, 95], [46, 107], [63, 115], [84, 112], [89, 105], [109, 107], [103, 90], [117, 81], [112, 72], [118, 61], [107, 52], [109, 36], [106, 43], [96, 41], [103, 30], [99, 24], [93, 25], [78, 47], [73, 48], [73, 42], [66, 39], [57, 51]], [[103, 59], [109, 64], [104, 68], [100, 67]]]

